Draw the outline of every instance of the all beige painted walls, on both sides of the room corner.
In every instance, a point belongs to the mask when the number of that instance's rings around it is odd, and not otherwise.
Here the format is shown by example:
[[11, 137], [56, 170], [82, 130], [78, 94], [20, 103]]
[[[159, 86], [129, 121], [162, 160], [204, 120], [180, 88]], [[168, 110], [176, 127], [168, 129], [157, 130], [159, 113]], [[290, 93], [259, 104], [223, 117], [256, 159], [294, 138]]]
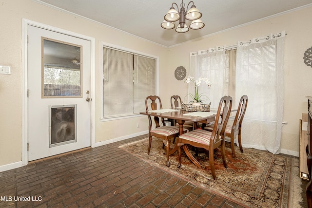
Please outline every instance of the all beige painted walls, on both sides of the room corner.
[[[312, 7], [267, 19], [224, 33], [191, 41], [170, 49], [145, 41], [110, 27], [65, 14], [31, 0], [2, 0], [0, 4], [0, 65], [11, 66], [11, 75], [0, 75], [0, 167], [22, 158], [22, 19], [29, 19], [60, 29], [95, 38], [95, 139], [97, 144], [110, 139], [126, 138], [147, 130], [147, 118], [100, 122], [100, 43], [101, 41], [159, 57], [160, 97], [169, 107], [171, 95], [185, 95], [187, 85], [177, 81], [174, 71], [184, 66], [189, 71], [189, 53], [233, 45], [285, 30], [285, 108], [282, 149], [291, 154], [299, 151], [299, 119], [306, 113], [306, 95], [312, 95], [312, 68], [303, 63], [303, 53], [312, 46]], [[206, 23], [209, 27], [209, 22]], [[159, 28], [161, 29], [161, 28]], [[181, 34], [183, 35], [183, 34]], [[168, 85], [170, 84], [170, 87]], [[168, 100], [168, 101], [167, 101]], [[137, 128], [137, 122], [140, 128]], [[120, 123], [126, 124], [121, 128]]]

